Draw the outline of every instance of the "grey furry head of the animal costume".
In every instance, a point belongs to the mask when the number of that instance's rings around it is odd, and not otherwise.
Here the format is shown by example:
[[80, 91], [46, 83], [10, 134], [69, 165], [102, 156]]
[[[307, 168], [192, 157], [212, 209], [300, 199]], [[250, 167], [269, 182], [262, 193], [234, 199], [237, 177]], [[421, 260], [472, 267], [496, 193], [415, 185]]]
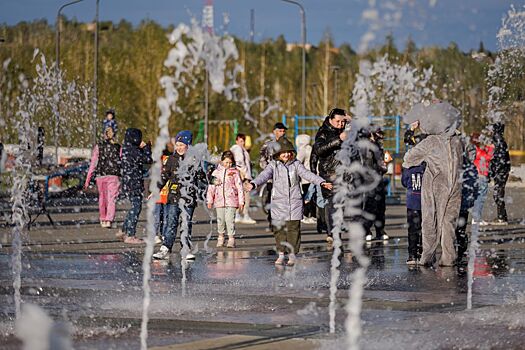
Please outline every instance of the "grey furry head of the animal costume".
[[461, 125], [461, 114], [448, 102], [418, 103], [403, 116], [403, 121], [412, 124], [418, 120], [425, 134], [452, 136]]

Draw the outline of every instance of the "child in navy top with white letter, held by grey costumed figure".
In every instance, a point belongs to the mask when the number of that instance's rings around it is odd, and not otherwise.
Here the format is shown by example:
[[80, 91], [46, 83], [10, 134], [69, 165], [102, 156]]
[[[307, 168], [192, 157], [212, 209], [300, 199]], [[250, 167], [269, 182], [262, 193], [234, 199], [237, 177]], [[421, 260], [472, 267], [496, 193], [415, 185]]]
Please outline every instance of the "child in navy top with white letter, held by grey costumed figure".
[[[407, 147], [416, 145], [424, 138], [424, 135], [415, 136], [415, 130], [419, 123], [415, 122], [405, 132], [405, 144]], [[407, 224], [408, 224], [408, 259], [407, 265], [417, 265], [421, 257], [421, 183], [425, 164], [416, 165], [408, 169], [403, 168], [401, 173], [401, 184], [407, 189]]]

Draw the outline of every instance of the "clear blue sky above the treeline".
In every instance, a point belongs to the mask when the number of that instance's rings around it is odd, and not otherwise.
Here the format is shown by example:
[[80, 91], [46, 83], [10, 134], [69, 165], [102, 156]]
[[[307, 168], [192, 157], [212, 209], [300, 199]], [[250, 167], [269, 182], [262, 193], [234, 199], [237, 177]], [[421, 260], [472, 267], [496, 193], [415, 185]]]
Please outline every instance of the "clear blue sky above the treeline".
[[[0, 25], [47, 19], [55, 23], [58, 8], [66, 0], [0, 0]], [[206, 0], [100, 0], [100, 20], [133, 24], [143, 19], [162, 25], [200, 20]], [[360, 47], [365, 34], [375, 35], [371, 46], [381, 44], [392, 33], [398, 48], [411, 37], [418, 47], [448, 46], [454, 41], [464, 51], [498, 48], [496, 34], [502, 17], [521, 0], [299, 0], [306, 12], [307, 41], [317, 45], [330, 33], [337, 45]], [[79, 21], [92, 21], [95, 0], [66, 7], [63, 14]], [[374, 6], [370, 4], [375, 3]], [[255, 10], [255, 41], [284, 35], [300, 42], [299, 8], [281, 0], [214, 0], [215, 29], [243, 39], [250, 38], [250, 10]], [[228, 24], [224, 25], [224, 17]]]

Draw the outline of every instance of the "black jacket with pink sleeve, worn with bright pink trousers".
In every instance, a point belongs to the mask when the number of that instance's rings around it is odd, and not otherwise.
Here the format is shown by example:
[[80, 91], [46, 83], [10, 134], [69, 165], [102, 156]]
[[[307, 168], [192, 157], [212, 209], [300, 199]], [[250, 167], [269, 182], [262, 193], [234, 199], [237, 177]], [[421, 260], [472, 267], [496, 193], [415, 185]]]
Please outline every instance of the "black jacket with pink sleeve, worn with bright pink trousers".
[[118, 176], [121, 175], [121, 158], [120, 145], [118, 143], [104, 140], [93, 148], [91, 155], [91, 162], [86, 177], [85, 186], [89, 185], [93, 175], [96, 177], [102, 176]]

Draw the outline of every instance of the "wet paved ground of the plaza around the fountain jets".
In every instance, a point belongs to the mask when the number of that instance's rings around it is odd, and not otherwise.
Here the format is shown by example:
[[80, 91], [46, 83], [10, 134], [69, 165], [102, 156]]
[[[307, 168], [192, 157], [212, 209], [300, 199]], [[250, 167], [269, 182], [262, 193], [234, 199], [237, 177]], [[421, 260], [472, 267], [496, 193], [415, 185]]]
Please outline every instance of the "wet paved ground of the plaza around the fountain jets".
[[[525, 347], [525, 189], [508, 193], [512, 224], [483, 228], [474, 309], [468, 311], [466, 273], [456, 267], [407, 267], [405, 208], [388, 207], [391, 239], [366, 247], [371, 265], [363, 296], [362, 348]], [[213, 239], [205, 249], [209, 217], [202, 209], [197, 212], [194, 236], [200, 249], [185, 272], [186, 281], [178, 252], [169, 262], [153, 261], [150, 347], [345, 348], [344, 308], [356, 267], [351, 254], [344, 255], [341, 265], [337, 327], [330, 334], [331, 252], [324, 236], [315, 225], [304, 225], [298, 264], [276, 267], [273, 237], [265, 230], [264, 214], [254, 209], [258, 223], [238, 225], [235, 249], [216, 249]], [[489, 198], [485, 217], [491, 218], [493, 210]], [[120, 220], [123, 214], [118, 213]], [[40, 226], [24, 237], [23, 302], [69, 322], [76, 349], [140, 348], [144, 246], [126, 246], [114, 238], [116, 229], [96, 225], [96, 208], [53, 216], [60, 226], [39, 218]], [[0, 233], [0, 348], [20, 349], [13, 336], [10, 233], [7, 228]]]

